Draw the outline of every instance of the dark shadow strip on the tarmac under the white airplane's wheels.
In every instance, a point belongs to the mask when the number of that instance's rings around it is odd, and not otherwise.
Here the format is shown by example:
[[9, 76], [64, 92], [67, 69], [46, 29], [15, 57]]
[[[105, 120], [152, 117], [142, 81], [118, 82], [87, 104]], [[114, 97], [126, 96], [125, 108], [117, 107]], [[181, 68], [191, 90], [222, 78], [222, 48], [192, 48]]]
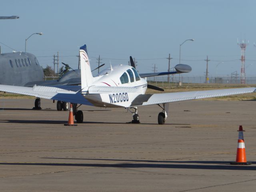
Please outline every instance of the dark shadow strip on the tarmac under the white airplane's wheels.
[[[58, 120], [9, 120], [9, 119], [2, 119], [0, 123], [24, 123], [24, 124], [64, 124], [66, 121], [58, 121]], [[76, 123], [76, 122], [74, 122]], [[90, 122], [84, 121], [82, 124], [128, 124], [130, 122]], [[78, 124], [78, 125], [82, 125]], [[158, 125], [158, 123], [140, 123], [142, 125]], [[190, 124], [165, 124], [165, 125], [190, 125]]]

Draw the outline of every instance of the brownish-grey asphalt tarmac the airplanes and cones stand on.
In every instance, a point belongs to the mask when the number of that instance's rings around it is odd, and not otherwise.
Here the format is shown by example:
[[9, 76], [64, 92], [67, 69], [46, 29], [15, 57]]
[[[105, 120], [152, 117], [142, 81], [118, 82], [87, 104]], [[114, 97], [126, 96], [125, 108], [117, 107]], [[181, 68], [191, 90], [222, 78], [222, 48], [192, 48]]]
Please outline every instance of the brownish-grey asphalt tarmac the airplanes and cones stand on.
[[[84, 123], [41, 100], [0, 99], [1, 192], [255, 192], [256, 101], [193, 100], [138, 108], [82, 106]], [[236, 159], [242, 125], [248, 166]]]

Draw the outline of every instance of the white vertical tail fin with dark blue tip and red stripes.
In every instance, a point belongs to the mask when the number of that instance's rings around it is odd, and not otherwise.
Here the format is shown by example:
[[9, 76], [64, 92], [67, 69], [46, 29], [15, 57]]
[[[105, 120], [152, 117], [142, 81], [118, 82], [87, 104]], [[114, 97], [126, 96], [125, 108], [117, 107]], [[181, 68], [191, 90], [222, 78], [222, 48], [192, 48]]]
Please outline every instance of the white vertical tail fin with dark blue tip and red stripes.
[[81, 86], [82, 89], [89, 87], [93, 83], [90, 62], [87, 54], [86, 45], [80, 47], [80, 64], [81, 64]]

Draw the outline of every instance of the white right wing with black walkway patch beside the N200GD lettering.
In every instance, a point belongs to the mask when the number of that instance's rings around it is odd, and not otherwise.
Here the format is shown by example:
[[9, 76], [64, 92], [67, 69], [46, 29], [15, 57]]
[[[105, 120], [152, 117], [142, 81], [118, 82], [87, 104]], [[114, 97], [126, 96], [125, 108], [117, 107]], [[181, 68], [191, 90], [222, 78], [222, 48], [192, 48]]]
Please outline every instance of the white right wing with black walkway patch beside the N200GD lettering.
[[160, 93], [160, 94], [140, 94], [132, 101], [130, 106], [132, 107], [132, 106], [162, 104], [162, 103], [169, 103], [169, 102], [175, 102], [175, 101], [228, 96], [228, 95], [244, 94], [244, 93], [252, 93], [252, 92], [256, 92], [255, 87], [223, 89], [223, 90]]

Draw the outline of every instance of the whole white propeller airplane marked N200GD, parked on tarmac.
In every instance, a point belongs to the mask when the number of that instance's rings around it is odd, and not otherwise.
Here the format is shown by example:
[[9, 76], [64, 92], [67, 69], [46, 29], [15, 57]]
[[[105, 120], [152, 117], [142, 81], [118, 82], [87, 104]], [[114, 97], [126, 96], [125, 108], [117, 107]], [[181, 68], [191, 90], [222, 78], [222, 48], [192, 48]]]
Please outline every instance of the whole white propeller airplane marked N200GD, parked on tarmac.
[[[61, 100], [75, 104], [97, 107], [134, 108], [133, 123], [139, 123], [138, 106], [156, 104], [161, 108], [158, 124], [164, 124], [169, 111], [169, 103], [183, 100], [227, 96], [255, 92], [256, 88], [236, 88], [224, 90], [207, 90], [175, 92], [162, 94], [145, 94], [147, 81], [141, 78], [132, 66], [119, 65], [103, 70], [93, 77], [86, 46], [80, 48], [81, 86], [36, 86], [21, 87], [0, 85], [0, 91], [36, 96], [52, 100]], [[79, 106], [78, 106], [79, 107]], [[78, 123], [83, 122], [83, 112], [75, 113]]]

